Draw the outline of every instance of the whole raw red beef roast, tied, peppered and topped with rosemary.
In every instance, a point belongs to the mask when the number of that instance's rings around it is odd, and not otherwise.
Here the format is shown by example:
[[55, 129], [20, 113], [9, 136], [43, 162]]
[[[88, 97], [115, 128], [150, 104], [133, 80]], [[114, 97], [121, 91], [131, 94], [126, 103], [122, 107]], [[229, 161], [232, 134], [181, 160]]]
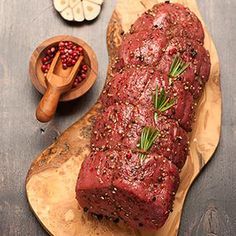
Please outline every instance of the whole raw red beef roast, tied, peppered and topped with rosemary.
[[145, 12], [123, 36], [82, 164], [86, 212], [158, 229], [172, 210], [197, 99], [209, 78], [199, 19], [180, 4]]

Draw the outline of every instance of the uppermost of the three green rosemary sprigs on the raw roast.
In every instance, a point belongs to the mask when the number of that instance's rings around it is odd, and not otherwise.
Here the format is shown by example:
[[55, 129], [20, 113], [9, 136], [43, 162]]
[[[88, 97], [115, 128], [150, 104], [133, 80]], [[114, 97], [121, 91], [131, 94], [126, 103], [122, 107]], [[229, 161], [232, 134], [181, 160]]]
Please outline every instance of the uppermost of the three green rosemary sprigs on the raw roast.
[[180, 75], [182, 75], [187, 68], [189, 67], [189, 63], [185, 63], [179, 55], [176, 55], [172, 61], [170, 72], [169, 72], [169, 78], [178, 78]]

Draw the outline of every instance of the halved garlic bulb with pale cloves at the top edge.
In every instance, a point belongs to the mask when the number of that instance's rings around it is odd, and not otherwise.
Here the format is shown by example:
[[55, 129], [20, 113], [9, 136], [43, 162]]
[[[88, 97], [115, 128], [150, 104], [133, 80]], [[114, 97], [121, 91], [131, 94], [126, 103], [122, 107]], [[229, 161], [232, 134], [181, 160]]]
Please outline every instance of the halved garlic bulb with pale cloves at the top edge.
[[94, 20], [101, 12], [103, 0], [53, 0], [55, 9], [67, 21]]

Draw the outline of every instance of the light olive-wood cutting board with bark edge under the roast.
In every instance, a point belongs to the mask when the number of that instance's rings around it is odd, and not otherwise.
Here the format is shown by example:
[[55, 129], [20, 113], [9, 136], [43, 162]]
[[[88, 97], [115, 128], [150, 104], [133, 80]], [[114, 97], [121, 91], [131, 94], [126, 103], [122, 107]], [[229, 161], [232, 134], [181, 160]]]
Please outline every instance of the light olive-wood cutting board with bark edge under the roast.
[[[136, 18], [158, 0], [118, 0], [107, 31], [110, 65], [121, 43], [120, 33], [127, 31]], [[188, 6], [200, 19], [195, 0], [176, 0]], [[203, 23], [204, 24], [204, 23]], [[190, 155], [181, 172], [181, 184], [176, 195], [174, 211], [166, 224], [156, 232], [134, 231], [122, 222], [88, 217], [75, 200], [75, 184], [84, 158], [90, 152], [91, 124], [99, 112], [97, 103], [82, 119], [67, 129], [59, 139], [43, 151], [32, 163], [26, 179], [29, 204], [39, 222], [56, 236], [175, 236], [178, 234], [184, 200], [191, 184], [212, 157], [220, 137], [221, 91], [219, 60], [216, 48], [206, 31], [205, 47], [210, 51], [212, 68], [210, 80], [200, 100], [196, 123], [191, 134]], [[109, 66], [107, 79], [111, 78]]]

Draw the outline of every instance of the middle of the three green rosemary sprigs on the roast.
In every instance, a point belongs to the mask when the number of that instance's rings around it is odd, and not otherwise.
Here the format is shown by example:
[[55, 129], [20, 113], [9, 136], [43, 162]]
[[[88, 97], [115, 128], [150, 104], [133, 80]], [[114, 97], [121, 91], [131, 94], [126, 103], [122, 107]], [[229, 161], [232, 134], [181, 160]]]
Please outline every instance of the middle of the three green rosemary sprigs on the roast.
[[155, 114], [154, 119], [157, 121], [158, 114], [161, 112], [165, 112], [168, 109], [170, 109], [172, 106], [174, 106], [176, 99], [170, 99], [168, 95], [166, 94], [166, 91], [164, 88], [161, 89], [161, 92], [159, 94], [158, 86], [156, 87], [156, 93], [153, 96], [153, 102], [154, 102], [154, 108], [155, 108]]

